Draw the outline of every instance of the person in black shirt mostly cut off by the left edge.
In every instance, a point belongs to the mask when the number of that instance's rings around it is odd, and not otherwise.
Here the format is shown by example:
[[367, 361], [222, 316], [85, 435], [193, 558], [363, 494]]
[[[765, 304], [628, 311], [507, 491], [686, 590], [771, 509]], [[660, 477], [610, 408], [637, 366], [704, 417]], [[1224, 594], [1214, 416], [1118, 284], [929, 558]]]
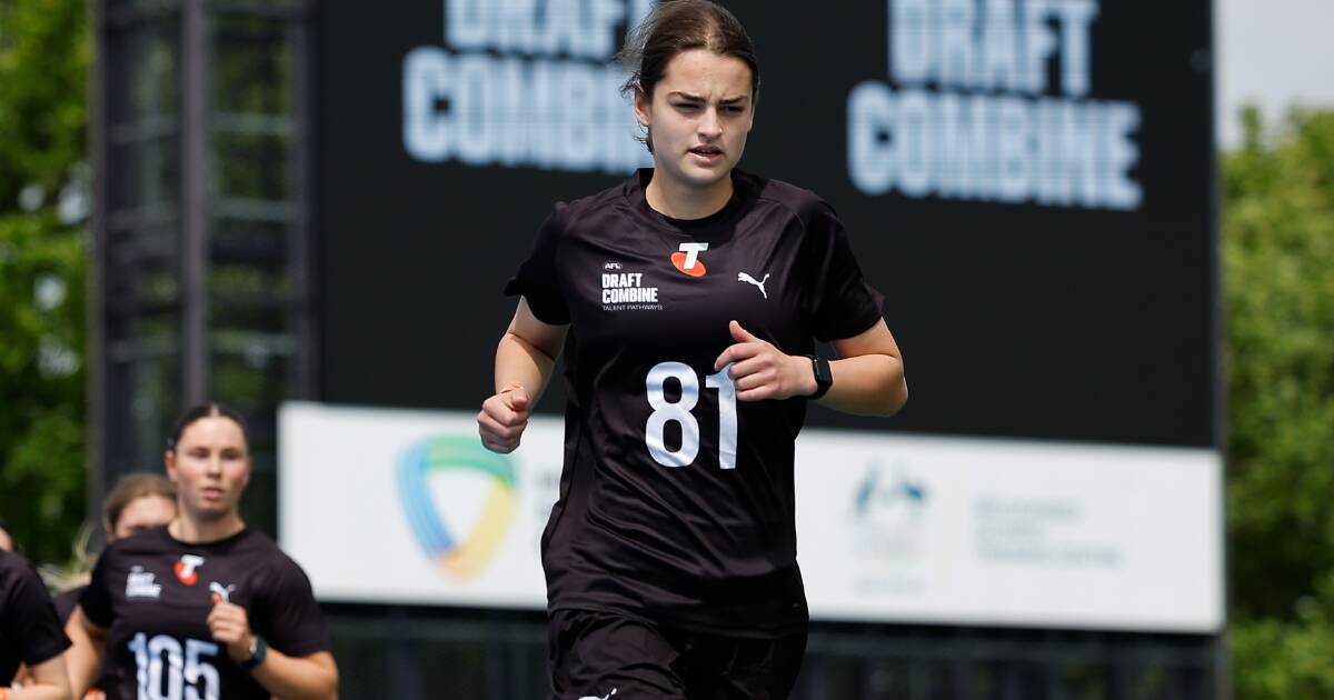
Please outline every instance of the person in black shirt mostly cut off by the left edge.
[[[37, 569], [0, 549], [0, 700], [69, 700], [68, 647]], [[20, 664], [27, 683], [12, 688]]]

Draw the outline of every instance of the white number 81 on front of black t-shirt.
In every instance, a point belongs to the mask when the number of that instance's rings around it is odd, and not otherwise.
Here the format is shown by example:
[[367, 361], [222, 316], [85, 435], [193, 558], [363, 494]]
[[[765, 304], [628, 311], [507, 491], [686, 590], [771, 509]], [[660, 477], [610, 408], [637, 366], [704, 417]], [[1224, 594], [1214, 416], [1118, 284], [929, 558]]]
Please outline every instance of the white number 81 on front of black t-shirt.
[[[727, 371], [704, 377], [704, 387], [718, 389], [718, 465], [723, 469], [736, 468], [736, 385]], [[663, 385], [668, 379], [680, 383], [680, 400], [668, 401]], [[699, 455], [699, 421], [691, 409], [699, 403], [699, 380], [695, 371], [683, 363], [658, 363], [648, 371], [644, 380], [648, 391], [648, 405], [654, 408], [648, 416], [644, 444], [654, 461], [663, 467], [688, 467]], [[663, 433], [668, 423], [680, 424], [680, 447], [667, 449]]]

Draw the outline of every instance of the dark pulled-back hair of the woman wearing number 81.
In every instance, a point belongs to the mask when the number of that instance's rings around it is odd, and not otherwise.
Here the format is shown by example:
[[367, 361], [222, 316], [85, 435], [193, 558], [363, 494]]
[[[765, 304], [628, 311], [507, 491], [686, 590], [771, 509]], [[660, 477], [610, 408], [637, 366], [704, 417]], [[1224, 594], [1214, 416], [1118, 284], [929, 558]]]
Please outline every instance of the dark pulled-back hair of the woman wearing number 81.
[[[719, 56], [739, 59], [751, 69], [751, 95], [759, 97], [759, 59], [746, 28], [727, 8], [710, 0], [671, 0], [654, 8], [626, 37], [616, 60], [630, 72], [620, 93], [632, 97], [643, 92], [652, 99], [654, 88], [667, 73], [667, 64], [691, 49], [703, 48]], [[654, 152], [652, 133], [640, 141]]]

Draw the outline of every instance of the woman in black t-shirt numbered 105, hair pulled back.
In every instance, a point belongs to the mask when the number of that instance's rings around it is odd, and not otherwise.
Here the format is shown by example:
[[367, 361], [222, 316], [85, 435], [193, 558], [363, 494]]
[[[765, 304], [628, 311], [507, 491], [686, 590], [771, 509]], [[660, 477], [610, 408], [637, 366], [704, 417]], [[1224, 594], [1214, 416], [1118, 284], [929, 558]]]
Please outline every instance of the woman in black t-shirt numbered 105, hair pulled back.
[[187, 411], [165, 463], [176, 517], [111, 543], [69, 617], [76, 697], [103, 660], [111, 700], [335, 697], [305, 573], [237, 512], [253, 468], [240, 416]]

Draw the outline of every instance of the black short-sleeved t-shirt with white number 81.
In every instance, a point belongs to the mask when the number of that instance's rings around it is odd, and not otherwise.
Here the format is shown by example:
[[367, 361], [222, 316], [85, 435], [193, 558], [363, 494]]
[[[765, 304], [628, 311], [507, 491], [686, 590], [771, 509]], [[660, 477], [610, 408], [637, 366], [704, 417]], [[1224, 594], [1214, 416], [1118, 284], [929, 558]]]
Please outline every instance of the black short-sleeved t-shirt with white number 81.
[[722, 211], [682, 221], [648, 207], [651, 177], [558, 205], [506, 287], [570, 324], [548, 607], [786, 635], [807, 621], [792, 487], [806, 400], [738, 401], [714, 360], [730, 320], [806, 355], [871, 328], [883, 299], [810, 191], [734, 171]]

